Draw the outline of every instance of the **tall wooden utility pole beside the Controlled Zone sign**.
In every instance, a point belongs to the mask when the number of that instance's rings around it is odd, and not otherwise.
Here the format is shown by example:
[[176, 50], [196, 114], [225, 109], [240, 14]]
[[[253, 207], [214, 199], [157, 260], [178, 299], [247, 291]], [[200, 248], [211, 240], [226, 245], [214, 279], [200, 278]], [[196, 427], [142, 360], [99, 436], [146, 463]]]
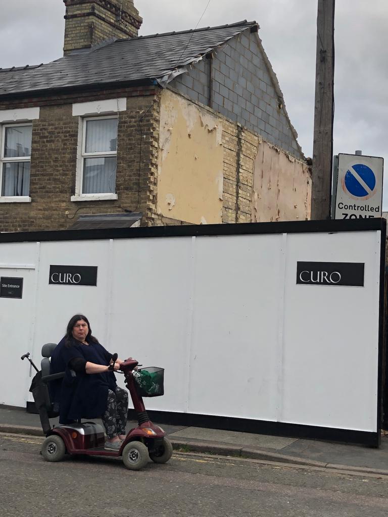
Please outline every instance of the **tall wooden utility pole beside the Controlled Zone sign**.
[[329, 219], [333, 174], [335, 0], [318, 0], [311, 219]]

